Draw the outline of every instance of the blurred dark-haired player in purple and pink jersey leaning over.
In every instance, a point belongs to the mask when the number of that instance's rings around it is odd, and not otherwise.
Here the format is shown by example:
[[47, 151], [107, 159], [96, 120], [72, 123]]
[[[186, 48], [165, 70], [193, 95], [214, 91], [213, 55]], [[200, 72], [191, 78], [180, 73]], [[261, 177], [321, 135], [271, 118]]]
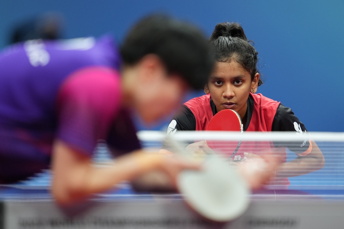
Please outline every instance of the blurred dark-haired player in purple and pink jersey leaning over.
[[[138, 22], [120, 51], [109, 37], [42, 39], [0, 54], [0, 183], [52, 167], [52, 193], [69, 204], [151, 170], [171, 180], [195, 162], [140, 150], [131, 111], [151, 122], [203, 88], [214, 64], [194, 26], [164, 15]], [[95, 168], [104, 139], [116, 161]]]

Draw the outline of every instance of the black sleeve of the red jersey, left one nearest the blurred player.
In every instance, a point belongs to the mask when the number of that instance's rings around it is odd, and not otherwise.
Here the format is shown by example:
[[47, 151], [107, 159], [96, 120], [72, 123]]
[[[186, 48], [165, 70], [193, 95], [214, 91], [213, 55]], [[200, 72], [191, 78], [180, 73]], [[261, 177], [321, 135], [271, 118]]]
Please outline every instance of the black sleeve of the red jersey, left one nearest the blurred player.
[[[175, 113], [172, 117], [171, 122], [167, 128], [167, 134], [174, 134], [176, 131], [180, 130], [196, 130], [196, 118], [192, 111], [185, 105]], [[187, 146], [192, 142], [184, 142], [182, 145]], [[173, 147], [169, 147], [169, 142], [164, 139], [162, 142], [162, 149], [169, 150], [173, 152]]]

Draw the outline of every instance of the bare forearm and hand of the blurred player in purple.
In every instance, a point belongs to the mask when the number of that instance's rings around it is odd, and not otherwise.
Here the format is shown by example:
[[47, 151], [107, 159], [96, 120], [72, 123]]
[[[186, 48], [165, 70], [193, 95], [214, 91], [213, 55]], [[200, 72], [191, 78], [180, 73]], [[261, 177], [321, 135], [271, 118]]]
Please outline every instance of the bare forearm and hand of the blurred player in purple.
[[[67, 205], [108, 190], [121, 181], [134, 181], [144, 177], [148, 172], [159, 172], [162, 178], [160, 181], [167, 182], [160, 184], [171, 187], [181, 170], [199, 170], [201, 164], [176, 156], [166, 157], [139, 150], [117, 158], [108, 167], [97, 168], [88, 156], [57, 140], [53, 147], [52, 169], [53, 195], [58, 203]], [[155, 182], [150, 181], [151, 184]]]

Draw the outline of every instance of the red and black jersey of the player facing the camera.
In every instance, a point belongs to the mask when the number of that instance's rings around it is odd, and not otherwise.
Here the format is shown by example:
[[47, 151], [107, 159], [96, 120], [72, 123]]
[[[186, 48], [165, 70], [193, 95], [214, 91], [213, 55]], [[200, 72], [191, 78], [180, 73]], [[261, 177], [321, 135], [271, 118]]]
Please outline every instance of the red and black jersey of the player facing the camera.
[[[289, 107], [280, 102], [269, 99], [262, 94], [252, 94], [247, 100], [247, 121], [244, 131], [297, 131], [299, 134], [307, 133], [303, 123], [294, 115]], [[205, 130], [210, 119], [217, 113], [216, 106], [210, 94], [193, 98], [184, 103], [181, 109], [173, 116], [168, 127], [168, 133], [179, 130]], [[259, 146], [258, 146], [258, 145]], [[300, 144], [293, 142], [246, 142], [240, 145], [238, 152], [232, 160], [240, 161], [245, 158], [244, 152], [257, 153], [255, 149], [271, 151], [275, 148], [288, 148], [298, 156], [307, 155], [312, 145], [308, 138]], [[284, 150], [285, 152], [285, 150]], [[282, 162], [286, 161], [286, 153]], [[273, 182], [276, 184], [276, 182]], [[279, 179], [277, 184], [288, 185], [288, 179]]]

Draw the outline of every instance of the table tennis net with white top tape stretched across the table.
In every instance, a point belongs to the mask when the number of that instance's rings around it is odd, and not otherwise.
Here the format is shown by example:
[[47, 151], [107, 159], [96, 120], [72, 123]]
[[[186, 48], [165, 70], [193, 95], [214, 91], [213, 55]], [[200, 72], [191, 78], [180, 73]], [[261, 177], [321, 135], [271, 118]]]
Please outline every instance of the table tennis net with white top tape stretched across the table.
[[[248, 158], [245, 158], [244, 152], [263, 157], [278, 157], [289, 163], [295, 159], [298, 160], [298, 158], [303, 159], [311, 156], [309, 154], [304, 156], [301, 154], [300, 156], [303, 147], [309, 148], [307, 142], [304, 142], [305, 139], [311, 138], [324, 156], [323, 168], [318, 169], [319, 164], [317, 162], [309, 162], [308, 168], [299, 166], [291, 172], [280, 173], [280, 175], [288, 177], [287, 181], [286, 179], [275, 179], [264, 187], [268, 189], [344, 190], [344, 133], [313, 132], [308, 138], [305, 138], [304, 135], [295, 134], [295, 132], [244, 132], [238, 134], [225, 131], [177, 131], [173, 135], [167, 136], [162, 131], [138, 131], [137, 136], [142, 148], [147, 152], [158, 152], [160, 149], [166, 149], [173, 153], [190, 155], [195, 154], [192, 149], [189, 149], [190, 144], [206, 140], [216, 146], [213, 150], [215, 154], [220, 155], [224, 160], [231, 160], [236, 163], [246, 163]], [[237, 152], [229, 159], [238, 142], [240, 142], [240, 146]], [[300, 147], [302, 144], [304, 146]], [[316, 148], [314, 143], [312, 148]], [[107, 166], [112, 164], [112, 160], [105, 141], [99, 141], [93, 158], [95, 165]], [[315, 171], [309, 172], [308, 169], [312, 169], [313, 166]], [[302, 175], [292, 176], [295, 173]], [[16, 185], [29, 186], [30, 188], [49, 188], [50, 181], [50, 171], [46, 170], [25, 181], [18, 182]]]

